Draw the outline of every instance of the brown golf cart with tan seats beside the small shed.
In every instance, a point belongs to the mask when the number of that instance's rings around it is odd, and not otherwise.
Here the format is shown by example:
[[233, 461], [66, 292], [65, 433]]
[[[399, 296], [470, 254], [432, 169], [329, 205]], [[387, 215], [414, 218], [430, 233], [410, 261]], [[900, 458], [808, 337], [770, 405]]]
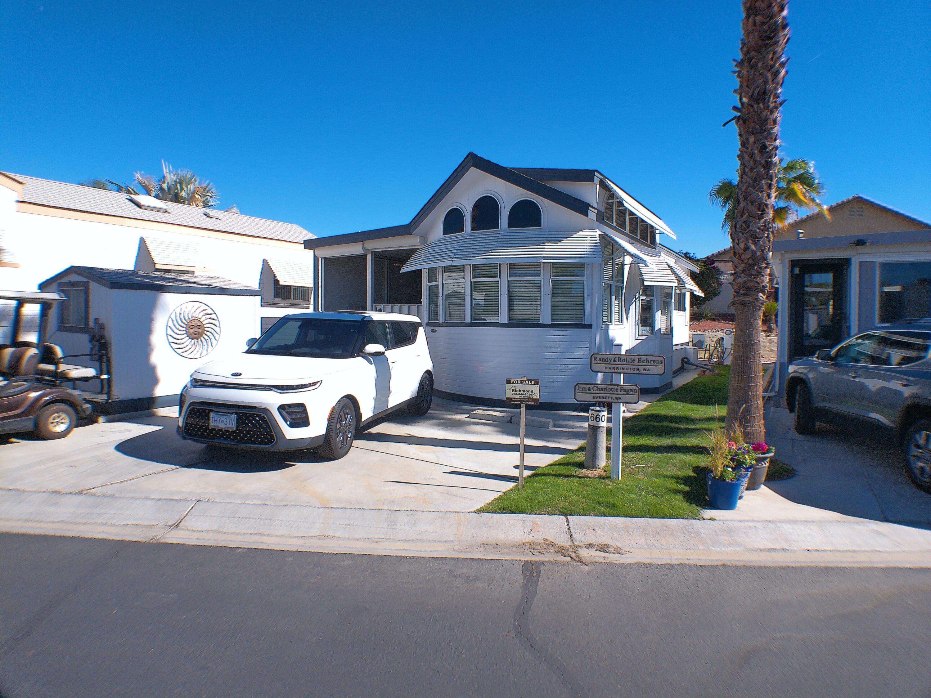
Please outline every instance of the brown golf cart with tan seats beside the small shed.
[[[46, 342], [48, 317], [63, 300], [58, 293], [0, 291], [0, 434], [63, 438], [90, 414], [81, 393], [64, 383], [95, 380], [101, 374], [65, 364], [69, 356]], [[27, 308], [33, 312], [25, 312]]]

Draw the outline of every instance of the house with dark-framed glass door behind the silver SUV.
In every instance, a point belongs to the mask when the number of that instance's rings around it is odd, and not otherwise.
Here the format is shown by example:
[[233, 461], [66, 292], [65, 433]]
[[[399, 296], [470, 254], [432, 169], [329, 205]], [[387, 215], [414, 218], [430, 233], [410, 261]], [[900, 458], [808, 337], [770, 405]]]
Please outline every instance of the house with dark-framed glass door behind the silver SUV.
[[792, 221], [773, 243], [788, 289], [779, 298], [781, 377], [789, 361], [876, 325], [931, 317], [931, 223], [860, 195], [828, 210], [830, 220], [816, 212]]

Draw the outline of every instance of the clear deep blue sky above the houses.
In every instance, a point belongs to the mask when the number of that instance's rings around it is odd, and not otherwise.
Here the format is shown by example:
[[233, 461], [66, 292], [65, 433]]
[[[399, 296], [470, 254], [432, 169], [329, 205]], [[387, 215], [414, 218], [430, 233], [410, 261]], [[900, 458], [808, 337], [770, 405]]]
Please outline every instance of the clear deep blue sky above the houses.
[[[155, 11], [159, 13], [156, 14]], [[931, 4], [789, 7], [784, 151], [931, 221]], [[127, 181], [162, 158], [222, 206], [333, 235], [410, 221], [469, 151], [598, 168], [726, 244], [730, 2], [5, 4], [0, 169]]]

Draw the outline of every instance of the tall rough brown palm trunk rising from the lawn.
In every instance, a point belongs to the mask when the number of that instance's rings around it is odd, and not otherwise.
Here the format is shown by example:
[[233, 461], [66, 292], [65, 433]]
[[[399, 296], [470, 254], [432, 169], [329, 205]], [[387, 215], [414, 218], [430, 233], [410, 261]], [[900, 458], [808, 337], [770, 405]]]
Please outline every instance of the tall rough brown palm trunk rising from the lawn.
[[731, 228], [735, 334], [726, 431], [762, 441], [762, 306], [769, 289], [773, 208], [779, 168], [779, 117], [789, 41], [788, 0], [743, 0], [737, 75], [740, 167]]

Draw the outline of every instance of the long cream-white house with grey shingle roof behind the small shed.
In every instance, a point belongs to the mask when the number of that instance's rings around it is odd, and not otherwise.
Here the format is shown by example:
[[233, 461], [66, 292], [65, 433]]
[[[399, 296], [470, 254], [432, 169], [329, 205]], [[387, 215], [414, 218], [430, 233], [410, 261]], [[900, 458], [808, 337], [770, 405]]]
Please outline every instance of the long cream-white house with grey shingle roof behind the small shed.
[[3, 289], [34, 290], [73, 265], [220, 276], [261, 290], [258, 334], [310, 307], [308, 237], [291, 223], [0, 172]]

